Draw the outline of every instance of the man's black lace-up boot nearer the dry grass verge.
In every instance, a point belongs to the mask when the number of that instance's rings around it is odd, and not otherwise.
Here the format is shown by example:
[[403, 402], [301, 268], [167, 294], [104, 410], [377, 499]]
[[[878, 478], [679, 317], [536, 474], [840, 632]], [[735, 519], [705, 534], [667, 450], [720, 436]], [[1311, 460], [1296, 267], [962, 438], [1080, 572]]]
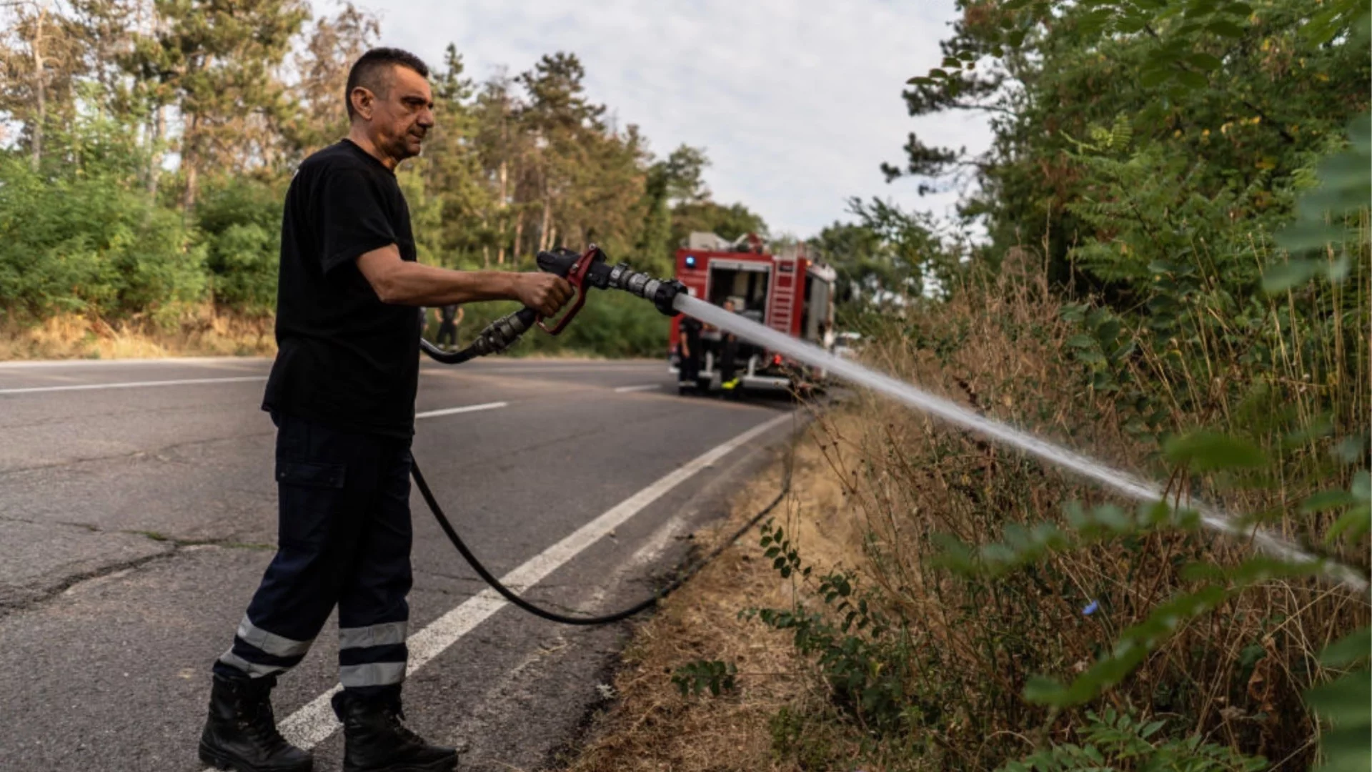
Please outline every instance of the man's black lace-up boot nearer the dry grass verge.
[[343, 723], [343, 772], [451, 772], [457, 750], [424, 742], [402, 720], [398, 696], [366, 699], [333, 695]]

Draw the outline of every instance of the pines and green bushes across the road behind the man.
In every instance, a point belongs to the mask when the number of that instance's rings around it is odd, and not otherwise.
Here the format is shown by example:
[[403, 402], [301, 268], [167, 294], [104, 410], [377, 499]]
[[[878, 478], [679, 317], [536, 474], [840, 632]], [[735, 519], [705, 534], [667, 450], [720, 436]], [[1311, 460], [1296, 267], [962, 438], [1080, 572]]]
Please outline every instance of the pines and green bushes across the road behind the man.
[[[379, 18], [299, 0], [19, 0], [0, 19], [3, 313], [270, 313], [281, 198], [299, 161], [347, 133], [347, 69]], [[766, 231], [712, 201], [704, 148], [656, 158], [611, 118], [575, 54], [483, 82], [453, 45], [431, 65], [436, 125], [398, 173], [427, 262], [531, 269], [541, 249], [595, 242], [668, 273], [689, 231]], [[583, 343], [656, 353], [650, 312], [606, 308], [613, 341]]]

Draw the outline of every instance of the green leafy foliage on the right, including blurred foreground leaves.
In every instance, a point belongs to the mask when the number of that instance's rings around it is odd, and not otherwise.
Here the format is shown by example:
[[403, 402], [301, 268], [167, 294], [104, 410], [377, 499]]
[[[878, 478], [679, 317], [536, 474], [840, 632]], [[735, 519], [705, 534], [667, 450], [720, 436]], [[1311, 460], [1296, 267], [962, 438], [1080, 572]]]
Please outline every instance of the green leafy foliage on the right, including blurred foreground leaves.
[[[1209, 479], [1216, 495], [1306, 490], [1299, 514], [1283, 507], [1264, 519], [1284, 514], [1286, 529], [1328, 549], [1318, 555], [1353, 566], [1331, 576], [1364, 577], [1367, 4], [959, 7], [963, 18], [943, 44], [941, 66], [910, 80], [906, 103], [912, 115], [985, 113], [992, 147], [969, 157], [911, 135], [906, 162], [884, 166], [888, 177], [918, 176], [926, 188], [973, 183], [960, 212], [989, 236], [975, 266], [1039, 254], [1065, 301], [1062, 319], [1080, 328], [1066, 353], [1085, 368], [1084, 396], [1113, 402], [1125, 431], [1157, 444], [1163, 468]], [[1137, 522], [1113, 507], [1069, 518], [1073, 529], [1120, 537], [1115, 526], [1174, 527], [1147, 511]], [[975, 548], [954, 540], [944, 559], [989, 577], [1036, 571], [1047, 555], [1080, 548], [1054, 523], [1007, 525], [1004, 536]], [[1091, 703], [1126, 683], [1188, 621], [1257, 582], [1317, 569], [1269, 558], [1199, 565], [1188, 587], [1115, 633], [1092, 665], [1067, 679], [1030, 679], [1024, 695], [1054, 710]], [[1342, 633], [1356, 621], [1347, 615]], [[1346, 668], [1365, 657], [1367, 633], [1347, 640], [1362, 651], [1338, 662], [1327, 657], [1323, 666], [1342, 677], [1310, 691], [1302, 707], [1332, 718], [1325, 762], [1351, 769], [1365, 768], [1372, 753], [1369, 676]], [[1320, 673], [1313, 659], [1303, 663]], [[1089, 740], [1092, 732], [1080, 735]], [[1011, 768], [1107, 761], [1087, 743], [1056, 745]]]

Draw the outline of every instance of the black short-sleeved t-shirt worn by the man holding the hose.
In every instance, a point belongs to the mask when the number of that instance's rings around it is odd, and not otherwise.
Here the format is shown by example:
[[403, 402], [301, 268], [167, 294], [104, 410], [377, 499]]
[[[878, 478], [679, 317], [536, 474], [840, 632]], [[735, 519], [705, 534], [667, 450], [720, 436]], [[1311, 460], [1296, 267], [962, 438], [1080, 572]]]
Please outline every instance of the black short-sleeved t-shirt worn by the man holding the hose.
[[276, 363], [262, 409], [344, 430], [414, 434], [420, 315], [383, 304], [357, 258], [414, 260], [395, 174], [348, 140], [300, 163], [285, 194]]

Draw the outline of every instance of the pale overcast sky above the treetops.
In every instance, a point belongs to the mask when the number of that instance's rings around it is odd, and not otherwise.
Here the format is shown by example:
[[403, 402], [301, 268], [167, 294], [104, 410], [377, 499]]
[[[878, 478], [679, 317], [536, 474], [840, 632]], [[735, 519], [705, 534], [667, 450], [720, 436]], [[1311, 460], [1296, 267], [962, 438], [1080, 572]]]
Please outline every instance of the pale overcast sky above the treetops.
[[[849, 220], [849, 196], [892, 198], [944, 214], [954, 194], [921, 198], [886, 184], [910, 130], [930, 143], [984, 147], [980, 115], [912, 120], [900, 92], [938, 66], [952, 0], [361, 0], [381, 43], [434, 66], [456, 43], [468, 73], [517, 74], [569, 51], [590, 98], [638, 124], [652, 150], [705, 147], [715, 201], [759, 212], [772, 232], [811, 236]], [[320, 11], [333, 10], [316, 0]]]

